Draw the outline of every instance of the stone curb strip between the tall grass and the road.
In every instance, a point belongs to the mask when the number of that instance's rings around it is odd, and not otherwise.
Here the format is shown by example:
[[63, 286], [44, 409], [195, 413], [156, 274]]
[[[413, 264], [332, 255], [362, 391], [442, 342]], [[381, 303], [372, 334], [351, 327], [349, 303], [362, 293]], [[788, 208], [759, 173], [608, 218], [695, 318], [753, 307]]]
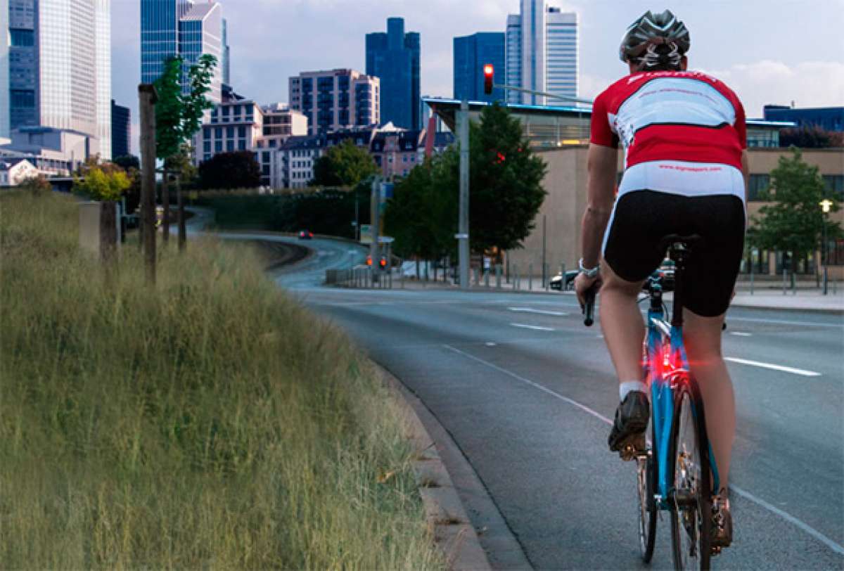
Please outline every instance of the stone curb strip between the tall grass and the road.
[[371, 361], [381, 373], [381, 379], [392, 393], [408, 427], [408, 439], [414, 447], [411, 464], [414, 468], [419, 495], [425, 506], [425, 520], [434, 536], [436, 546], [443, 553], [446, 567], [454, 571], [492, 567], [481, 547], [478, 533], [457, 496], [452, 477], [446, 470], [436, 442], [408, 401], [408, 390], [387, 369]]

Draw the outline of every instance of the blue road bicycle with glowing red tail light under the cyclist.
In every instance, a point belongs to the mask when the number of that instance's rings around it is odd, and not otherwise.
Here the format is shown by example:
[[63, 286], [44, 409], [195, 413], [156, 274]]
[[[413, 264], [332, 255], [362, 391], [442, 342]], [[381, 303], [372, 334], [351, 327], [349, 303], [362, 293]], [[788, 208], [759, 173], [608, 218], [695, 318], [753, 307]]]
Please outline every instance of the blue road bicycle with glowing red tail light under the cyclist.
[[[701, 392], [690, 374], [683, 345], [683, 277], [697, 235], [670, 234], [663, 250], [676, 264], [670, 325], [658, 277], [648, 277], [647, 335], [643, 343], [645, 378], [651, 393], [651, 420], [642, 441], [622, 450], [636, 459], [641, 557], [653, 556], [657, 514], [671, 517], [672, 556], [676, 569], [708, 569], [720, 547], [711, 546], [712, 491], [720, 489], [717, 466], [706, 435]], [[587, 293], [584, 325], [592, 325], [595, 292]], [[714, 485], [712, 485], [714, 484]]]

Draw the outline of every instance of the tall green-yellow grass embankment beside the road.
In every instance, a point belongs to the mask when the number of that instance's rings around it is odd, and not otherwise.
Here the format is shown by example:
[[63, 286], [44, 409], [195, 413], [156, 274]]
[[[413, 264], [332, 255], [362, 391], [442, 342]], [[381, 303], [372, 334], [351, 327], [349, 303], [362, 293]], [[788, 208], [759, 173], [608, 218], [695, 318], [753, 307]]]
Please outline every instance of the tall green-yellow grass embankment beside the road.
[[151, 289], [133, 247], [109, 276], [80, 254], [77, 220], [0, 197], [0, 567], [441, 566], [344, 335], [245, 246], [171, 248]]

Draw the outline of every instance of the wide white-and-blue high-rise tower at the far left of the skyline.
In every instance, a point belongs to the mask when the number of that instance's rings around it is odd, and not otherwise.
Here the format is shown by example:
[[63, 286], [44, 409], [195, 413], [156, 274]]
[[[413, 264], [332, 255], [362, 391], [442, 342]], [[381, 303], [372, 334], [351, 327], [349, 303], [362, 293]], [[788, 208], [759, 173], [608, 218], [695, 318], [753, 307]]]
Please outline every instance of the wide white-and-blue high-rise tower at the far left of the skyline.
[[12, 129], [83, 132], [111, 159], [110, 0], [9, 0]]

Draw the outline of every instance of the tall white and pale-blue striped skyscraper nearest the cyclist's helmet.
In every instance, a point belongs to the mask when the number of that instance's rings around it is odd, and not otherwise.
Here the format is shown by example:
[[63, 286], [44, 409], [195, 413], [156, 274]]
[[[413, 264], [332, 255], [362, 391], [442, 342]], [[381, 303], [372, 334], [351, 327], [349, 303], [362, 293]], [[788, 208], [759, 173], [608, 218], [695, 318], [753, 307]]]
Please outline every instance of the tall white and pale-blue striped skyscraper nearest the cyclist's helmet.
[[[507, 84], [563, 97], [577, 96], [577, 14], [546, 0], [522, 0], [507, 16]], [[511, 91], [511, 103], [548, 105], [560, 100]]]

